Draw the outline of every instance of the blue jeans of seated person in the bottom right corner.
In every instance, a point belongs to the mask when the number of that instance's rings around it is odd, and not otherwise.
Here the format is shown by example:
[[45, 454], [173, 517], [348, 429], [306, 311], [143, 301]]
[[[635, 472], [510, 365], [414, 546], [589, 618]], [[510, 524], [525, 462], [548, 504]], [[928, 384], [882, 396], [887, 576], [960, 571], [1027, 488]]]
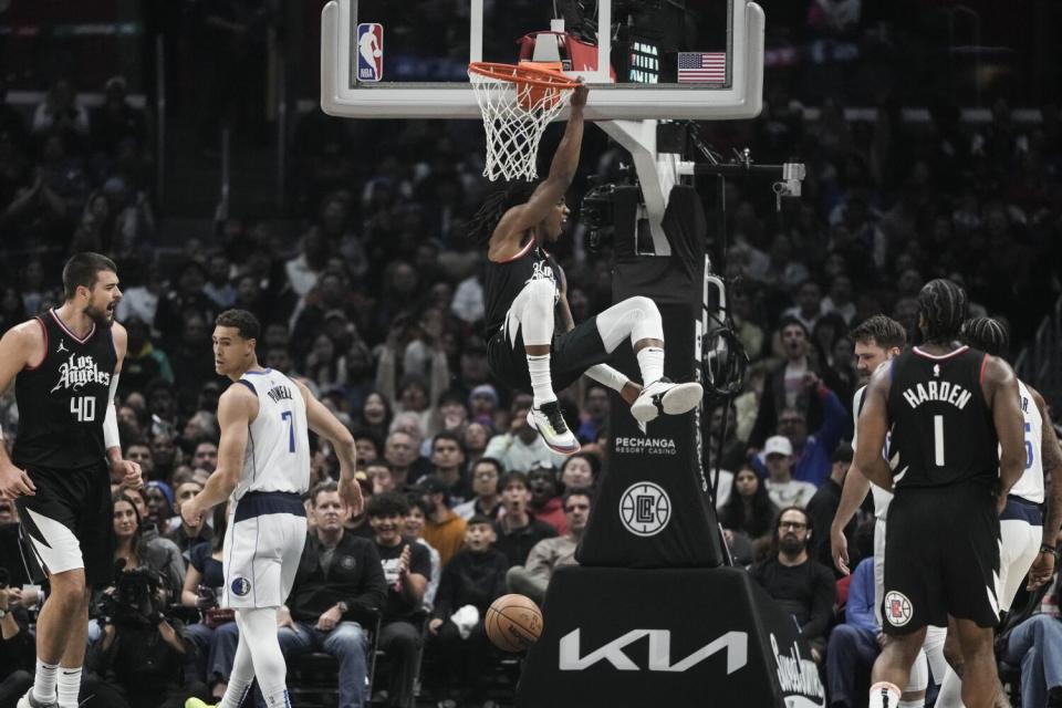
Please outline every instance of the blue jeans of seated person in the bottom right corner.
[[1021, 708], [1043, 708], [1062, 686], [1062, 620], [1033, 615], [1010, 631], [1008, 664], [1021, 666]]

